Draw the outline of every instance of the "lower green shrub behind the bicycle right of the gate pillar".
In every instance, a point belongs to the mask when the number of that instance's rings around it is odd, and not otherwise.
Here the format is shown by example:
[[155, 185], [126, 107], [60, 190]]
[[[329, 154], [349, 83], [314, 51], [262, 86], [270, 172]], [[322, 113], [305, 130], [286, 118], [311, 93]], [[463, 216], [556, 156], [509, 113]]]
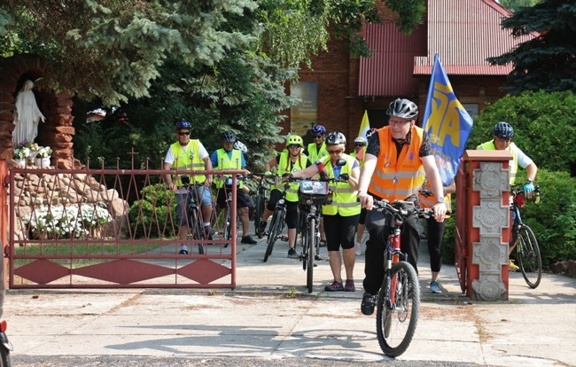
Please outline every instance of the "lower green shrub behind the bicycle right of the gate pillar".
[[[553, 262], [576, 260], [576, 178], [566, 172], [539, 169], [536, 181], [541, 201], [536, 204], [527, 199], [520, 215], [538, 239], [546, 269]], [[455, 221], [448, 220], [442, 242], [444, 263], [454, 263], [454, 249]]]

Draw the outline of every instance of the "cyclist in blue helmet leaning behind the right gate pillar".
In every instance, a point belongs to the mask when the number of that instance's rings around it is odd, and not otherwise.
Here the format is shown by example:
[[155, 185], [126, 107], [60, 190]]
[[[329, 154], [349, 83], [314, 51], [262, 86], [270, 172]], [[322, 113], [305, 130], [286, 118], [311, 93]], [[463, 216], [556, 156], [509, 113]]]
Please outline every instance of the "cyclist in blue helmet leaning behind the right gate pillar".
[[[516, 174], [518, 172], [518, 166], [526, 169], [526, 183], [524, 184], [524, 192], [526, 198], [532, 198], [534, 191], [534, 180], [536, 179], [536, 172], [538, 172], [538, 167], [524, 152], [516, 146], [516, 144], [511, 142], [514, 136], [514, 128], [510, 123], [501, 121], [494, 125], [494, 138], [489, 142], [479, 144], [476, 149], [485, 151], [510, 151], [512, 153], [512, 159], [510, 160], [509, 167], [509, 180], [510, 185], [514, 184], [516, 181]], [[514, 222], [515, 218], [512, 218]], [[516, 238], [512, 238], [510, 242], [510, 249], [508, 255], [512, 253], [516, 247]], [[514, 260], [510, 259], [508, 262], [509, 269], [518, 270], [518, 266], [514, 263]]]

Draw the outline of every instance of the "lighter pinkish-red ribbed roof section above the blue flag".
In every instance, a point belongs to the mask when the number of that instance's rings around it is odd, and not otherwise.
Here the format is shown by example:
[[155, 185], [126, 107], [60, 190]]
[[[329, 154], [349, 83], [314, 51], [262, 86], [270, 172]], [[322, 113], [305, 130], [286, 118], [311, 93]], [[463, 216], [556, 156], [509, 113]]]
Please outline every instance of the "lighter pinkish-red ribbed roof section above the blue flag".
[[429, 1], [428, 55], [415, 58], [414, 74], [431, 74], [435, 53], [448, 74], [510, 74], [511, 65], [491, 66], [486, 61], [533, 37], [513, 37], [510, 29], [502, 29], [502, 19], [510, 15], [494, 0]]

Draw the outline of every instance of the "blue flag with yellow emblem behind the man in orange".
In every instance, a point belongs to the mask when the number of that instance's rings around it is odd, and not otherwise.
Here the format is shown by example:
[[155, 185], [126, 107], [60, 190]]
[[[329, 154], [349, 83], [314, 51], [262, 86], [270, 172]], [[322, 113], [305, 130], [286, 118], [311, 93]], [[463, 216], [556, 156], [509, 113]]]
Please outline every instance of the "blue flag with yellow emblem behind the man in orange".
[[426, 98], [423, 128], [430, 137], [432, 153], [444, 185], [454, 181], [460, 158], [470, 137], [472, 123], [470, 114], [458, 102], [448, 75], [436, 54]]

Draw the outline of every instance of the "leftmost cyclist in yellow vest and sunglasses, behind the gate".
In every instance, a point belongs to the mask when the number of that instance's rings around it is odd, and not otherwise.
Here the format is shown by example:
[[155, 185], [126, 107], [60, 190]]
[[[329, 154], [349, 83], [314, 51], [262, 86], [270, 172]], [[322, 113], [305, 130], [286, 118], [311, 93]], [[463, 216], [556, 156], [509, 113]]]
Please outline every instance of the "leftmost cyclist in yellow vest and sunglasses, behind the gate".
[[[208, 156], [206, 148], [198, 139], [191, 139], [192, 124], [188, 121], [179, 121], [176, 123], [176, 139], [174, 144], [170, 145], [166, 158], [164, 159], [164, 169], [171, 169], [173, 166], [176, 170], [212, 170], [212, 162]], [[181, 175], [174, 177], [167, 174], [165, 176], [168, 188], [176, 193], [176, 220], [178, 221], [178, 238], [188, 238], [188, 213], [186, 211], [187, 203], [191, 199], [188, 191], [183, 188]], [[191, 183], [197, 183], [198, 202], [202, 205], [202, 218], [206, 233], [212, 233], [210, 229], [210, 218], [212, 216], [212, 193], [210, 185], [212, 184], [212, 175], [192, 175]], [[182, 245], [179, 254], [188, 254], [188, 246]]]

